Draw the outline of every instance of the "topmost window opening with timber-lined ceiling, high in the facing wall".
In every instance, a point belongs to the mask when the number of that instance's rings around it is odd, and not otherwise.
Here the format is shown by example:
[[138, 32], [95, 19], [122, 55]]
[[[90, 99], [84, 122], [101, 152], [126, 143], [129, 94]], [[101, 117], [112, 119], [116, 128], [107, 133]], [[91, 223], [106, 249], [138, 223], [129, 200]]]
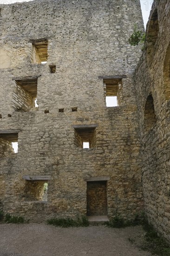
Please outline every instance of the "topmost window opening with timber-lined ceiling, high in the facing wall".
[[48, 40], [32, 40], [32, 62], [37, 64], [46, 64], [48, 57]]

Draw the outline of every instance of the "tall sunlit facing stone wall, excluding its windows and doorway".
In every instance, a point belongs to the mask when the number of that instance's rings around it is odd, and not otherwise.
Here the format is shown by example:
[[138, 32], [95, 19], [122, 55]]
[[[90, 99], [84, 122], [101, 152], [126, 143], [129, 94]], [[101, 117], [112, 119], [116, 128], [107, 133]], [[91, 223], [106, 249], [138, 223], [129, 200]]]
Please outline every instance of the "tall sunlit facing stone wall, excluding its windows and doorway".
[[[11, 66], [1, 69], [6, 79], [0, 85], [0, 129], [20, 129], [18, 154], [0, 162], [4, 210], [34, 222], [86, 214], [85, 179], [107, 176], [108, 216], [134, 216], [143, 209], [133, 81], [141, 51], [128, 38], [134, 23], [144, 29], [139, 0], [105, 1], [105, 6], [94, 0], [42, 0], [4, 6], [1, 15]], [[31, 40], [37, 39], [48, 40], [44, 65], [32, 63]], [[56, 65], [54, 74], [49, 65]], [[107, 108], [102, 77], [122, 75], [121, 104]], [[10, 81], [26, 76], [38, 77], [39, 108], [17, 112]], [[90, 124], [97, 125], [95, 148], [80, 148], [73, 126]], [[28, 201], [24, 175], [51, 175], [47, 202]]]

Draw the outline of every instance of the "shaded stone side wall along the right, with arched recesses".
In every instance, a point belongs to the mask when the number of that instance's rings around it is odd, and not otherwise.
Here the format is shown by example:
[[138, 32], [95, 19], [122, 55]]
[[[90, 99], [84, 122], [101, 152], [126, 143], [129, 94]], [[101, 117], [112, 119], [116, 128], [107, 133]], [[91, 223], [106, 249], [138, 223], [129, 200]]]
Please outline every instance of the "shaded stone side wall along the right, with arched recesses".
[[[142, 141], [142, 181], [145, 211], [158, 232], [170, 240], [169, 1], [156, 0], [154, 2], [147, 25], [147, 33], [157, 27], [152, 27], [153, 13], [156, 9], [159, 29], [156, 33], [155, 45], [151, 44], [152, 56], [145, 45], [135, 77]], [[152, 31], [152, 34], [155, 34], [155, 31]], [[152, 94], [154, 108], [149, 107], [150, 103], [147, 101], [149, 94]], [[155, 112], [155, 116], [153, 112]], [[153, 122], [153, 120], [155, 121]]]

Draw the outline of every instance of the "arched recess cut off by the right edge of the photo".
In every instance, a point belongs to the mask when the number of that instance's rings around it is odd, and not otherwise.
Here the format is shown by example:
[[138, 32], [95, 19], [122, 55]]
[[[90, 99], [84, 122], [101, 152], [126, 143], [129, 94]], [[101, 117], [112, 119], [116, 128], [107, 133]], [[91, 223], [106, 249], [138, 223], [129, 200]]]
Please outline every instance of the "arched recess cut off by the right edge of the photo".
[[166, 51], [163, 65], [163, 88], [166, 100], [170, 100], [170, 43]]

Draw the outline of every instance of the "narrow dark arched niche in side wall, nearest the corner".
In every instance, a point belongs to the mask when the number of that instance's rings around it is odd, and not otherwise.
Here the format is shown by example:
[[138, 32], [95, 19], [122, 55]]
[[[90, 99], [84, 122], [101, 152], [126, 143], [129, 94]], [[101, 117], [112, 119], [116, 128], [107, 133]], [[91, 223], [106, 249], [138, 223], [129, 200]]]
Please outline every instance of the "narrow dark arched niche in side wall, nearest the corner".
[[157, 122], [156, 115], [155, 115], [155, 108], [153, 97], [150, 94], [147, 97], [145, 108], [144, 108], [144, 129], [146, 132], [150, 131], [151, 128], [155, 126]]

